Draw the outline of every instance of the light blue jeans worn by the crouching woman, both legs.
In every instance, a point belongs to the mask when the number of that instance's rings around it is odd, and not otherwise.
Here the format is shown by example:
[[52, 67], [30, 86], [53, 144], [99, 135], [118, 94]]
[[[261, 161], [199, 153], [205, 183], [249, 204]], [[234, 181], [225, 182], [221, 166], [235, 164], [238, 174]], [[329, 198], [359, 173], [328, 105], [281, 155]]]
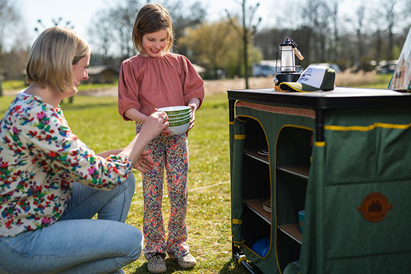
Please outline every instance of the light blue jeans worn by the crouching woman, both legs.
[[[125, 224], [134, 176], [113, 190], [75, 183], [62, 218], [16, 237], [0, 237], [0, 273], [110, 273], [142, 251], [140, 230]], [[98, 219], [90, 219], [98, 213]]]

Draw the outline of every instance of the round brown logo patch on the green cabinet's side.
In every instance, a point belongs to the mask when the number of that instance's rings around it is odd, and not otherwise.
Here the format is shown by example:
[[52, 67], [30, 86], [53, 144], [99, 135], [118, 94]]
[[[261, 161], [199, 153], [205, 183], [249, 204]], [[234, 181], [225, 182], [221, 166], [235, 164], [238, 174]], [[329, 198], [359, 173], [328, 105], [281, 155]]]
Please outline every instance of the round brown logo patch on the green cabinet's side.
[[388, 199], [384, 194], [374, 192], [366, 195], [357, 210], [361, 212], [366, 221], [377, 223], [384, 220], [391, 208], [393, 208], [393, 205], [388, 203]]

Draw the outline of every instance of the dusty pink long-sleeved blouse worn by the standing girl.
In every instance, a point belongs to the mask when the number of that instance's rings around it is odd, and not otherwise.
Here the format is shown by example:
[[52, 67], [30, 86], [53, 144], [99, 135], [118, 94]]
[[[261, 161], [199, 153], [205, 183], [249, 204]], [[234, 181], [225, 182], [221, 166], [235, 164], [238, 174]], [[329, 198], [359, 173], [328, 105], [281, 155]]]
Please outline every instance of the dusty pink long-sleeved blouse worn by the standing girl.
[[[167, 53], [158, 58], [135, 55], [123, 61], [119, 77], [119, 113], [135, 108], [150, 115], [154, 108], [188, 105], [204, 98], [204, 82], [184, 55]], [[200, 106], [199, 105], [199, 106]]]

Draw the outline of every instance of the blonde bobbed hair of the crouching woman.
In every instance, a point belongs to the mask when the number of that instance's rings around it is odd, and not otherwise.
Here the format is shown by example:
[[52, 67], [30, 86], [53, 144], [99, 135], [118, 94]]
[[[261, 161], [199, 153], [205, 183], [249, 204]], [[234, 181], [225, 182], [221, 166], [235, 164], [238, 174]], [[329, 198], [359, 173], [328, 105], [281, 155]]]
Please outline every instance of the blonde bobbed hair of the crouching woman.
[[61, 92], [73, 88], [72, 65], [90, 54], [88, 42], [69, 27], [50, 27], [38, 36], [27, 57], [27, 83]]

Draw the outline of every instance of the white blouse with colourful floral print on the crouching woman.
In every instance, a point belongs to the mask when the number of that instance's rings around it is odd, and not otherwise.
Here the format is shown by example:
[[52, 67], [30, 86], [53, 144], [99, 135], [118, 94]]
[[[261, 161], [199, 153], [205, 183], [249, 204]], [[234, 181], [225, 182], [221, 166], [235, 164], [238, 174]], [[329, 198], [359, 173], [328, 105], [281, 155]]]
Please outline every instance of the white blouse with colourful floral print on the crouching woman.
[[129, 158], [101, 158], [80, 141], [60, 106], [20, 92], [0, 121], [0, 236], [58, 221], [73, 182], [110, 190], [131, 171]]

